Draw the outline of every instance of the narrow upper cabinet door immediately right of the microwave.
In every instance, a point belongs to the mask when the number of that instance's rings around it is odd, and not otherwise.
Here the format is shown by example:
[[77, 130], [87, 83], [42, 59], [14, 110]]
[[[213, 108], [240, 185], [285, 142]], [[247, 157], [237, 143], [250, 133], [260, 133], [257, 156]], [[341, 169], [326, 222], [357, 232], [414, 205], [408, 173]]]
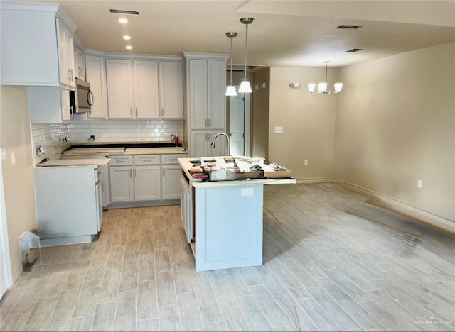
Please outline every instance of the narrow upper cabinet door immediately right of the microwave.
[[105, 58], [95, 55], [85, 55], [85, 76], [90, 83], [94, 103], [90, 118], [107, 118], [107, 89]]

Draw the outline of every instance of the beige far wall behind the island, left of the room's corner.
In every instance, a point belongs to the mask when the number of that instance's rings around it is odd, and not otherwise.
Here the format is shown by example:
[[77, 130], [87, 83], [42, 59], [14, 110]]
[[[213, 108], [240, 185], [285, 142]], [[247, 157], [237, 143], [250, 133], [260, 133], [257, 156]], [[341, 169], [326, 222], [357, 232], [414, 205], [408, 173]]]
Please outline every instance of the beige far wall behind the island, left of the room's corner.
[[[328, 88], [338, 70], [328, 69]], [[269, 160], [284, 165], [296, 179], [333, 177], [335, 94], [310, 94], [309, 82], [321, 82], [324, 68], [272, 67], [270, 70]], [[289, 83], [301, 82], [300, 89]], [[282, 126], [283, 133], [274, 133]], [[304, 165], [304, 160], [309, 165]]]

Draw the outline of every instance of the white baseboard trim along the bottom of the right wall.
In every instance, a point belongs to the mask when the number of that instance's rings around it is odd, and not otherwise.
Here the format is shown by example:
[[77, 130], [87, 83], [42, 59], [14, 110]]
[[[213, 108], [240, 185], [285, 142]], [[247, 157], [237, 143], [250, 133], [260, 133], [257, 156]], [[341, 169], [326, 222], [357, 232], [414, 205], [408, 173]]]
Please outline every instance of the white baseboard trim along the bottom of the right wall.
[[341, 179], [334, 179], [334, 181], [338, 182], [339, 184], [343, 184], [343, 186], [347, 187], [353, 192], [358, 192], [359, 194], [364, 194], [365, 196], [371, 197], [373, 199], [372, 201], [369, 201], [371, 204], [380, 206], [384, 209], [389, 209], [390, 211], [394, 211], [397, 214], [402, 214], [403, 216], [412, 218], [420, 223], [424, 223], [427, 226], [436, 228], [437, 230], [444, 232], [449, 236], [455, 237], [455, 221], [437, 216], [431, 212], [418, 209], [415, 206], [411, 206], [402, 201], [398, 201], [397, 199], [392, 199], [391, 197], [379, 194], [378, 192], [373, 192], [373, 190], [360, 187], [356, 184], [352, 184]]

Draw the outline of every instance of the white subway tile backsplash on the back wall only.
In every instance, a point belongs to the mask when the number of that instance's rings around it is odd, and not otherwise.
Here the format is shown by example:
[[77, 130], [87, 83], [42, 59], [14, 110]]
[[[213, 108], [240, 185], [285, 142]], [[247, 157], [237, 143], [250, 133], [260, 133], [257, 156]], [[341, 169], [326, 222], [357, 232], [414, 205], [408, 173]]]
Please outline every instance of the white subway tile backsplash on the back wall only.
[[72, 142], [87, 142], [91, 135], [95, 141], [165, 141], [171, 135], [183, 138], [183, 120], [161, 119], [101, 119], [70, 121]]

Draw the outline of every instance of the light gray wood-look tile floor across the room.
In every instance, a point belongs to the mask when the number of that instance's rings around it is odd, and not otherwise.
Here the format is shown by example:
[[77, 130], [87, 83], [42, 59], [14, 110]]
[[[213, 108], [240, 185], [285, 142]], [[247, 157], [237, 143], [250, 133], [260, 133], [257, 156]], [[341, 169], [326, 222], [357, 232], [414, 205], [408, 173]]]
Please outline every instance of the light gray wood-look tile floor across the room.
[[[41, 249], [2, 331], [454, 331], [454, 241], [336, 183], [265, 186], [264, 265], [195, 272], [179, 206]], [[232, 238], [235, 245], [235, 238]]]

